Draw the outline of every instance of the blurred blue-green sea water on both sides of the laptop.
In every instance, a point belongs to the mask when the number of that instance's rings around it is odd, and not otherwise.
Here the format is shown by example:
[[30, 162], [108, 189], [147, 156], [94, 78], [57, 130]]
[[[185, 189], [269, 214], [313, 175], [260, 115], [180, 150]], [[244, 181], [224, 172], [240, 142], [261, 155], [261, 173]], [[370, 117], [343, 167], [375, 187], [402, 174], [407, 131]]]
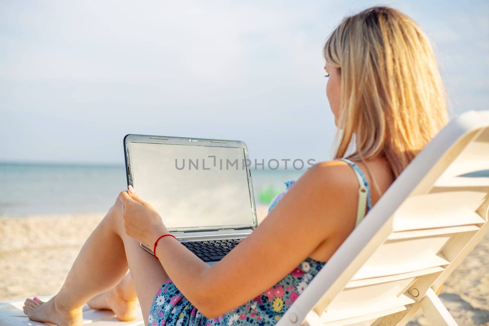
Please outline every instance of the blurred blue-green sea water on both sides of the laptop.
[[[255, 203], [267, 205], [305, 171], [252, 170]], [[0, 217], [106, 212], [127, 189], [124, 166], [0, 163], [0, 180]]]

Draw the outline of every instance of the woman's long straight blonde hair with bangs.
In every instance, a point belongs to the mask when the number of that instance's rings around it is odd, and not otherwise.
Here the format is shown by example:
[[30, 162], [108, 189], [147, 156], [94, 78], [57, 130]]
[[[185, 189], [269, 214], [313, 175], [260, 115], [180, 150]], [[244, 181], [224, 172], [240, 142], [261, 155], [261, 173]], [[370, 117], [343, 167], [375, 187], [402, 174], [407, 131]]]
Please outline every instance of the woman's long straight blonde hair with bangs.
[[397, 177], [448, 121], [427, 36], [398, 10], [376, 6], [343, 19], [323, 54], [341, 74], [334, 158], [355, 144], [348, 159], [384, 155]]

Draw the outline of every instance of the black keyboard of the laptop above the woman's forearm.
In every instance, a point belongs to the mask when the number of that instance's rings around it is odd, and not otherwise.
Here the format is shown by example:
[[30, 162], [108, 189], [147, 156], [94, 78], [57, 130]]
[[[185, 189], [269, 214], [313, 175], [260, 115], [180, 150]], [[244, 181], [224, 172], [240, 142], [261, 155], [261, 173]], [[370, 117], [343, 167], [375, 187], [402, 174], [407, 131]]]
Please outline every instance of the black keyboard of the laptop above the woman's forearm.
[[220, 239], [181, 242], [202, 261], [220, 261], [241, 239]]

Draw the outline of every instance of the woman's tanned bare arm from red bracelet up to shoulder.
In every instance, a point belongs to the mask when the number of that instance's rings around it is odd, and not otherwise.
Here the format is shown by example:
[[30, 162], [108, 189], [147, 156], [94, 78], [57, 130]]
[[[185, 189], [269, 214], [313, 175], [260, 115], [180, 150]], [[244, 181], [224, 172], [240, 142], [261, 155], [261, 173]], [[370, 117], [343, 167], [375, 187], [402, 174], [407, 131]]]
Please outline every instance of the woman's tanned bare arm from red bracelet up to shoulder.
[[[280, 281], [323, 241], [350, 234], [355, 217], [345, 217], [344, 208], [356, 203], [356, 188], [345, 182], [348, 175], [335, 162], [307, 171], [260, 226], [212, 267], [171, 237], [158, 242], [156, 255], [204, 316], [219, 316]], [[336, 248], [341, 243], [332, 242]]]

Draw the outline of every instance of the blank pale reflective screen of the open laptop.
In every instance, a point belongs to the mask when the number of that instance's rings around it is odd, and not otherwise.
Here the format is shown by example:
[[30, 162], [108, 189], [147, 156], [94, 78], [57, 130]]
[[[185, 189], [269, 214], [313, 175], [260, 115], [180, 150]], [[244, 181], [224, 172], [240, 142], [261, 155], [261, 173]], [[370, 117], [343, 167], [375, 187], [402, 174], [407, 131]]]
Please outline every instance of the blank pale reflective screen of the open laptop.
[[133, 187], [168, 229], [253, 225], [244, 149], [131, 142]]

